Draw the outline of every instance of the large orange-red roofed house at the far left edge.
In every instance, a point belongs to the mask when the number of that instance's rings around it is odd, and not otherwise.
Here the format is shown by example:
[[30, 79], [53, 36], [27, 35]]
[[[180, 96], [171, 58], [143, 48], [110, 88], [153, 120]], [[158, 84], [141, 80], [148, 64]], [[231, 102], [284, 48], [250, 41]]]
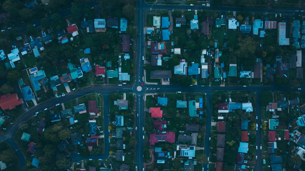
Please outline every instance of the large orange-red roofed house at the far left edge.
[[23, 104], [23, 100], [19, 99], [16, 93], [0, 96], [0, 107], [2, 110], [12, 110], [20, 104]]

